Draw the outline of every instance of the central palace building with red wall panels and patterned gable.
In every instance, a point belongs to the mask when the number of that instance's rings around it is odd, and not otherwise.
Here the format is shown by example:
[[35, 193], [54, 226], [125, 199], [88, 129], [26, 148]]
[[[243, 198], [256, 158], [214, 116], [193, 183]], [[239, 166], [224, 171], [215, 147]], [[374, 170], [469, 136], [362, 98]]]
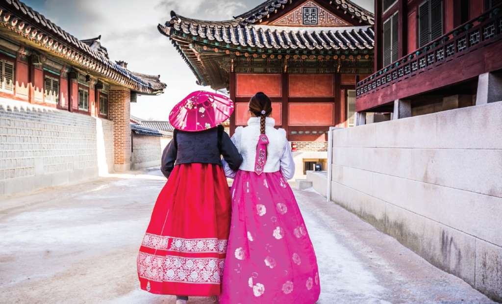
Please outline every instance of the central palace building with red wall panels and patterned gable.
[[171, 12], [158, 28], [198, 84], [228, 89], [230, 133], [246, 124], [249, 97], [268, 94], [304, 169], [326, 159], [330, 126], [354, 125], [356, 81], [373, 71], [373, 14], [348, 0], [269, 0], [229, 21]]

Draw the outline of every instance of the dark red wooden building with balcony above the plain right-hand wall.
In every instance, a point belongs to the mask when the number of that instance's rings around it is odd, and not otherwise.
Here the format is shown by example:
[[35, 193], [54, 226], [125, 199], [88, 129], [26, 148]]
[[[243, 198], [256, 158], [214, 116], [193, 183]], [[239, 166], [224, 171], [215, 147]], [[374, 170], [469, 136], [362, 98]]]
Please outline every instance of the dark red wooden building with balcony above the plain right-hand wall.
[[358, 124], [502, 100], [500, 3], [375, 0], [375, 73], [357, 83]]

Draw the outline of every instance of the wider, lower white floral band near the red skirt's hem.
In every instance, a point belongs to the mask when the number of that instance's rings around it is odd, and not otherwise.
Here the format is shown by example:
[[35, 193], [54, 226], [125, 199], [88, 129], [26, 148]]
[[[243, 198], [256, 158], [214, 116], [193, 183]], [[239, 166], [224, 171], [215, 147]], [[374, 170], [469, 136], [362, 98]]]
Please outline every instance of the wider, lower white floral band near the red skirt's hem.
[[157, 282], [219, 284], [224, 259], [160, 256], [144, 252], [138, 255], [140, 277]]

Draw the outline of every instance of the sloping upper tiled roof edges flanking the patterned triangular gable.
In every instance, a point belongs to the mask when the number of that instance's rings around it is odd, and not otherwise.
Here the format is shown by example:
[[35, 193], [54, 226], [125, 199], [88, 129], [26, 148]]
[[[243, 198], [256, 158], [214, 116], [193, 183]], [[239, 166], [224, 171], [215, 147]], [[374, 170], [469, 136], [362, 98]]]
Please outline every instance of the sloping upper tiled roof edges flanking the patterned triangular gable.
[[[277, 14], [288, 6], [297, 5], [298, 2], [298, 0], [268, 0], [256, 8], [234, 18], [240, 20], [243, 25], [255, 24], [265, 18], [270, 18], [270, 16]], [[373, 14], [352, 1], [334, 0], [330, 1], [330, 5], [341, 13], [348, 14], [351, 18], [358, 20], [362, 25], [374, 24]]]

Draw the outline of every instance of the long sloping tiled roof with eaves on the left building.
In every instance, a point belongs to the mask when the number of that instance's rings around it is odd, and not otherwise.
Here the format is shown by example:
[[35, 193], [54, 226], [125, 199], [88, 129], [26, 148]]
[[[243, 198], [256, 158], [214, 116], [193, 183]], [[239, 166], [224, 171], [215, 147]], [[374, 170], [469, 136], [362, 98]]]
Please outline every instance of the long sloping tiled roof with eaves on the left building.
[[110, 82], [144, 94], [159, 94], [166, 88], [163, 82], [145, 79], [111, 61], [99, 42], [100, 36], [78, 40], [19, 0], [0, 0], [0, 17], [0, 27], [18, 34], [20, 39]]

